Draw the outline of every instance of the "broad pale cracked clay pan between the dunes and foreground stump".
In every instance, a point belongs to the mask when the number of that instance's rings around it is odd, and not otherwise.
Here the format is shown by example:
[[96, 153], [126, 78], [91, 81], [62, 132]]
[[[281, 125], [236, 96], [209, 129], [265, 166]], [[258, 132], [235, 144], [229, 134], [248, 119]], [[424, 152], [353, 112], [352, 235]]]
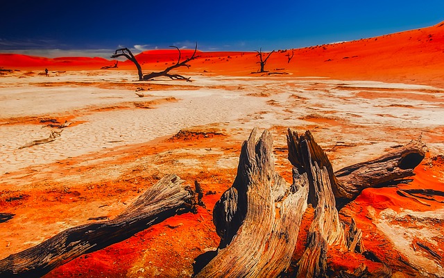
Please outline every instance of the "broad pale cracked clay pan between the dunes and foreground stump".
[[[288, 126], [300, 132], [311, 129], [318, 133], [316, 138], [325, 149], [334, 149], [336, 142], [354, 146], [336, 148], [329, 154], [336, 169], [364, 161], [392, 145], [405, 144], [406, 140], [417, 138], [420, 133], [429, 147], [438, 152], [444, 150], [443, 142], [427, 142], [429, 134], [439, 136], [443, 131], [443, 123], [438, 119], [444, 118], [444, 109], [435, 105], [436, 99], [433, 103], [428, 101], [427, 94], [424, 99], [417, 100], [355, 96], [361, 88], [408, 89], [415, 93], [440, 90], [431, 86], [307, 78], [196, 76], [192, 85], [199, 90], [150, 90], [149, 97], [141, 99], [133, 90], [33, 85], [50, 83], [51, 80], [131, 83], [134, 79], [128, 72], [122, 76], [119, 74], [76, 72], [53, 79], [8, 77], [7, 83], [15, 86], [0, 88], [0, 118], [74, 114], [78, 115], [74, 120], [83, 123], [64, 129], [62, 136], [53, 142], [25, 149], [18, 147], [31, 140], [46, 138], [50, 129], [35, 124], [0, 123], [0, 174], [92, 152], [97, 152], [99, 158], [114, 147], [147, 142], [189, 126], [216, 122], [227, 124], [229, 132], [239, 130], [244, 137], [253, 126]], [[172, 84], [171, 81], [152, 83]], [[189, 85], [185, 82], [174, 84]], [[228, 87], [230, 90], [223, 89]], [[262, 92], [269, 96], [252, 96]], [[174, 97], [178, 101], [160, 104], [153, 109], [131, 105], [135, 101], [164, 97]], [[129, 109], [95, 110], [113, 106]], [[307, 115], [315, 117], [306, 118]], [[286, 145], [283, 135], [277, 136], [275, 145]], [[341, 158], [357, 153], [359, 155], [347, 157], [346, 161]]]

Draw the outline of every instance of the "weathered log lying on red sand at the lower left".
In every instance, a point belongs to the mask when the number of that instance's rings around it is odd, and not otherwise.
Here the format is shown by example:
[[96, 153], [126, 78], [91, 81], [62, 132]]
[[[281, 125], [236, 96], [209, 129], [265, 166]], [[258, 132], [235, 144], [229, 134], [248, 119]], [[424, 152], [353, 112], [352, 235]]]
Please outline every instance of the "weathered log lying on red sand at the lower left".
[[170, 174], [148, 188], [117, 218], [66, 229], [39, 245], [11, 254], [0, 261], [0, 277], [40, 277], [81, 254], [129, 238], [176, 213], [193, 211], [194, 191], [181, 186], [182, 182]]

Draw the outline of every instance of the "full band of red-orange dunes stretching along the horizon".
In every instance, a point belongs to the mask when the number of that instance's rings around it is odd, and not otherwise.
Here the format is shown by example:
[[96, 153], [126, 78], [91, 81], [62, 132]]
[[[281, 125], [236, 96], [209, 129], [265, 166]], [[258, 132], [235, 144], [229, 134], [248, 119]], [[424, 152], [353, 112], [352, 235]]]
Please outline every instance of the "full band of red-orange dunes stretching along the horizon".
[[[182, 60], [194, 49], [182, 49]], [[289, 61], [289, 55], [293, 58]], [[111, 55], [111, 54], [110, 54]], [[258, 58], [251, 52], [203, 52], [192, 60], [189, 70], [214, 75], [248, 76], [259, 70]], [[264, 54], [266, 55], [266, 54]], [[164, 70], [178, 60], [176, 49], [144, 51], [136, 55], [144, 72]], [[99, 70], [113, 65], [104, 58], [41, 58], [0, 54], [0, 67], [14, 70], [28, 67], [50, 70]], [[302, 49], [278, 50], [270, 56], [265, 70], [290, 76], [323, 76], [333, 79], [364, 79], [443, 85], [444, 22], [427, 28], [382, 35], [351, 42], [323, 44]], [[132, 62], [119, 63], [117, 70], [135, 70]]]

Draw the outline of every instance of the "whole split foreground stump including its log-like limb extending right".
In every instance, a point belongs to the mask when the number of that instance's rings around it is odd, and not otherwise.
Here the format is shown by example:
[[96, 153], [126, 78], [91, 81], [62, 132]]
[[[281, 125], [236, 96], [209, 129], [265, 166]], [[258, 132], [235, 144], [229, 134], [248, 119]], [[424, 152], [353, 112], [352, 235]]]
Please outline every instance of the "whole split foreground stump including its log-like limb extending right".
[[[326, 277], [330, 247], [339, 246], [343, 252], [364, 252], [362, 231], [355, 221], [351, 220], [347, 228], [339, 220], [341, 206], [335, 192], [350, 193], [339, 195], [342, 204], [350, 202], [368, 186], [384, 186], [388, 181], [398, 182], [413, 175], [413, 168], [424, 155], [424, 145], [418, 140], [413, 144], [416, 147], [409, 144], [373, 161], [345, 167], [338, 171], [340, 177], [336, 177], [327, 155], [311, 133], [298, 136], [289, 130], [287, 144], [293, 184], [287, 186], [274, 170], [270, 133], [264, 131], [255, 142], [256, 132], [254, 129], [242, 145], [232, 187], [214, 206], [213, 221], [221, 238], [217, 255], [196, 277], [282, 275], [290, 264], [307, 203], [315, 209], [314, 220], [295, 275]], [[388, 173], [390, 170], [393, 174]], [[359, 186], [354, 182], [357, 179], [368, 183]], [[389, 277], [390, 272], [384, 265], [378, 275]]]

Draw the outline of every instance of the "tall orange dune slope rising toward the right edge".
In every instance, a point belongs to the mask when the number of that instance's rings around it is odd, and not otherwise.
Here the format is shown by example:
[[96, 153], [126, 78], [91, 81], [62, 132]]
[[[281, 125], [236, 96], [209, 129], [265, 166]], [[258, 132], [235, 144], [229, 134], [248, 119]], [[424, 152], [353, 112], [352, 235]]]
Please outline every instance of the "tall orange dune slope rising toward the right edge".
[[[287, 57], [280, 53], [273, 58], [270, 69]], [[441, 83], [443, 66], [444, 22], [377, 38], [296, 49], [291, 63], [282, 67], [301, 76]]]

